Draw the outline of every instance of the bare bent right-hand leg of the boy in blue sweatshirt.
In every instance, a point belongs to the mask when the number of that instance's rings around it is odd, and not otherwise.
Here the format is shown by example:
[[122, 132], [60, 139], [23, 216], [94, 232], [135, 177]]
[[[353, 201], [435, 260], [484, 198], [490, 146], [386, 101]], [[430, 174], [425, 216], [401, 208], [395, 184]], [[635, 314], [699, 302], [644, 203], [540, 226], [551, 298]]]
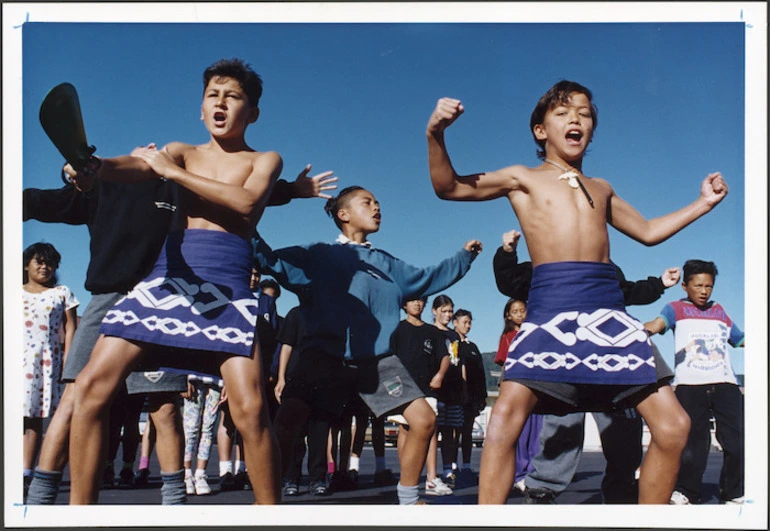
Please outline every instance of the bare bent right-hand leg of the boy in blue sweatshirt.
[[436, 431], [436, 415], [424, 398], [411, 402], [404, 410], [409, 423], [409, 436], [399, 455], [403, 487], [414, 487], [420, 482], [420, 473], [425, 466], [431, 435]]

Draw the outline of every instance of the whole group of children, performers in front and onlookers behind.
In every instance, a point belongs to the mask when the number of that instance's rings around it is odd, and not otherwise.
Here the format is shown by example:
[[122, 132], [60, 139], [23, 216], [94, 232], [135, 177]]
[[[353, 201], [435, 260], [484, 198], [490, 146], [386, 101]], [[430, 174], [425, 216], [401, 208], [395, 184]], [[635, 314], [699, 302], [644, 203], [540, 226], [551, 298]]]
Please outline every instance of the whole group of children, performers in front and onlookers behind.
[[[647, 245], [666, 240], [726, 196], [720, 174], [705, 178], [692, 204], [644, 219], [607, 181], [583, 174], [597, 110], [587, 88], [562, 81], [531, 116], [541, 165], [458, 175], [444, 131], [465, 109], [456, 99], [438, 101], [426, 130], [436, 194], [456, 201], [507, 197], [532, 258], [518, 262], [518, 231], [503, 235], [494, 257], [498, 289], [511, 299], [495, 356], [503, 368], [499, 396], [476, 475], [472, 430], [488, 397], [484, 360], [468, 337], [473, 316], [444, 294], [433, 299], [433, 324], [422, 313], [429, 296], [468, 273], [481, 242], [469, 240], [430, 267], [378, 249], [369, 237], [383, 216], [372, 191], [348, 186], [332, 197], [336, 177], [308, 177], [310, 166], [288, 183], [278, 179], [277, 153], [246, 144], [262, 93], [248, 65], [219, 61], [203, 81], [207, 143], [150, 144], [93, 159], [87, 168], [67, 165], [71, 182], [63, 189], [25, 190], [25, 219], [92, 229], [86, 289], [93, 294], [76, 332], [77, 299], [56, 283], [60, 255], [43, 243], [24, 251], [27, 503], [53, 503], [68, 458], [70, 503], [96, 503], [104, 482], [112, 483], [105, 473], [121, 432], [121, 486], [147, 482], [156, 433], [164, 504], [211, 493], [206, 468], [215, 438], [222, 490], [252, 489], [266, 504], [294, 496], [306, 453], [312, 494], [352, 489], [369, 422], [374, 481], [397, 484], [401, 504], [421, 503], [424, 468], [427, 496], [478, 484], [482, 504], [505, 503], [513, 487], [531, 503], [553, 503], [563, 486], [548, 478], [568, 482], [570, 474], [555, 471], [574, 473], [582, 449], [582, 437], [567, 444], [560, 433], [567, 423], [582, 430], [585, 412], [606, 419], [605, 502], [700, 501], [713, 415], [725, 450], [720, 498], [740, 503], [743, 395], [727, 345], [743, 346], [744, 338], [711, 300], [716, 266], [688, 261], [686, 298], [642, 324], [626, 305], [657, 300], [679, 281], [679, 269], [627, 282], [610, 261], [607, 234], [609, 224]], [[293, 197], [327, 200], [336, 241], [268, 245], [269, 235], [257, 230], [262, 212]], [[137, 246], [118, 245], [118, 231]], [[119, 254], [107, 260], [112, 250], [128, 253], [125, 261]], [[262, 272], [275, 280], [260, 283]], [[285, 319], [275, 306], [281, 287], [299, 299]], [[161, 298], [164, 304], [153, 303]], [[187, 333], [150, 324], [161, 321]], [[624, 327], [623, 340], [609, 341], [594, 326], [600, 321]], [[648, 337], [668, 329], [675, 332], [674, 372]], [[62, 390], [60, 381], [75, 385]], [[147, 449], [143, 442], [133, 475], [136, 404], [149, 419]], [[42, 420], [52, 415], [43, 443]], [[397, 474], [385, 463], [386, 417], [400, 424]], [[643, 461], [640, 417], [652, 437]], [[627, 451], [614, 451], [618, 444]], [[562, 447], [574, 453], [554, 453]], [[640, 461], [637, 482], [631, 476]]]

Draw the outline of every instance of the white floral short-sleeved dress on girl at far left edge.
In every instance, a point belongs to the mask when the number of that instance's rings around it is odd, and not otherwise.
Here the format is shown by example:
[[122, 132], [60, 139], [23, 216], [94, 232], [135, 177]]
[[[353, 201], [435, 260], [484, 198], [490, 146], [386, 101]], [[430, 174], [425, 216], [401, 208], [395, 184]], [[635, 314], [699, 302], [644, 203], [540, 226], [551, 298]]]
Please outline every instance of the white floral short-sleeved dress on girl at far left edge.
[[64, 312], [78, 306], [67, 286], [24, 293], [24, 416], [53, 415], [63, 390]]

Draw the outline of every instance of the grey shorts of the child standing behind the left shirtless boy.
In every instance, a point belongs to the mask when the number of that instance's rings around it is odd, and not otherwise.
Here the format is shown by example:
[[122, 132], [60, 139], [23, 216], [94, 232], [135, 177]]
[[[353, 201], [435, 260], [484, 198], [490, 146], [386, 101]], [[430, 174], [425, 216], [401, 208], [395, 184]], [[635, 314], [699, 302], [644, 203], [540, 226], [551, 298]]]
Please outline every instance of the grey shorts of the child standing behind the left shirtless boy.
[[[123, 293], [103, 293], [91, 295], [67, 353], [67, 362], [62, 371], [62, 381], [74, 382], [75, 378], [91, 358], [91, 351], [99, 339], [99, 327], [102, 318]], [[128, 394], [182, 392], [187, 390], [187, 376], [156, 372], [134, 372], [126, 379]]]

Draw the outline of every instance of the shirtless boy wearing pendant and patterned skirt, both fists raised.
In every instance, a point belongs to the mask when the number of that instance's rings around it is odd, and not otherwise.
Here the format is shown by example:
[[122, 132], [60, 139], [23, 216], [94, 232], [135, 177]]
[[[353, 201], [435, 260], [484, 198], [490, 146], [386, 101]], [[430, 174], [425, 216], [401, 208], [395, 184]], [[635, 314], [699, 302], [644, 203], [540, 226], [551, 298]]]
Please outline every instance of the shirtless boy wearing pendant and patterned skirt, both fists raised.
[[[647, 220], [610, 184], [582, 172], [596, 128], [591, 92], [571, 81], [538, 102], [530, 128], [543, 164], [460, 176], [444, 130], [464, 111], [438, 101], [427, 126], [433, 188], [442, 199], [507, 197], [534, 266], [527, 320], [511, 343], [500, 395], [492, 409], [479, 478], [479, 503], [505, 503], [513, 481], [514, 445], [531, 411], [599, 411], [635, 406], [652, 440], [641, 467], [639, 503], [667, 504], [674, 489], [689, 418], [658, 374], [641, 323], [628, 316], [609, 262], [609, 223], [645, 245], [658, 244], [714, 208], [727, 194], [719, 173], [700, 197]], [[614, 327], [605, 333], [608, 324]], [[612, 369], [612, 370], [607, 370]], [[502, 481], [502, 483], [501, 483]]]

